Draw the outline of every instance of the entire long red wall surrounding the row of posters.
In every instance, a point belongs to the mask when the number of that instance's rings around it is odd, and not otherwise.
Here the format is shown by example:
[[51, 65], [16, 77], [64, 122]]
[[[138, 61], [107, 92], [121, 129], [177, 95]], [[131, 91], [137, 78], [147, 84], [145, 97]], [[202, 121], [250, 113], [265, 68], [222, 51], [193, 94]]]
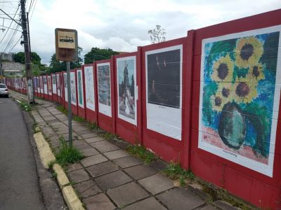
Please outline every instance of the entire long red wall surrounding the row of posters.
[[[125, 141], [132, 144], [141, 144], [149, 148], [153, 153], [166, 161], [180, 162], [185, 169], [191, 169], [194, 174], [207, 180], [214, 185], [225, 188], [233, 195], [255, 204], [259, 208], [281, 208], [281, 114], [277, 117], [277, 132], [275, 139], [273, 176], [267, 176], [256, 172], [250, 167], [244, 167], [239, 162], [221, 158], [219, 155], [203, 150], [199, 145], [200, 126], [200, 85], [204, 81], [201, 75], [202, 41], [206, 38], [214, 38], [227, 34], [235, 34], [242, 31], [262, 29], [281, 25], [281, 10], [273, 10], [239, 20], [224, 22], [202, 29], [188, 31], [188, 36], [163, 43], [138, 47], [137, 52], [113, 56], [111, 59], [94, 62], [82, 66], [84, 105], [85, 99], [85, 66], [93, 66], [95, 111], [86, 108], [79, 108], [72, 105], [74, 114], [85, 117], [91, 122], [96, 122], [103, 130], [117, 134]], [[245, 34], [247, 36], [247, 33]], [[163, 50], [173, 46], [182, 46], [182, 99], [181, 99], [181, 141], [165, 134], [148, 129], [148, 113], [146, 102], [146, 54], [153, 50]], [[280, 46], [279, 46], [280, 47]], [[280, 48], [279, 48], [280, 50]], [[153, 52], [157, 53], [157, 52]], [[136, 57], [136, 85], [138, 86], [137, 122], [136, 125], [118, 116], [118, 83], [117, 83], [117, 59], [124, 57]], [[280, 61], [280, 57], [278, 57]], [[97, 65], [110, 63], [110, 87], [111, 87], [111, 116], [100, 112], [98, 104], [98, 73]], [[158, 61], [157, 61], [158, 62]], [[158, 64], [157, 64], [158, 65]], [[166, 65], [164, 63], [164, 65]], [[73, 71], [73, 70], [72, 70]], [[18, 85], [16, 83], [18, 81]], [[11, 88], [25, 92], [23, 80], [8, 80]], [[67, 108], [64, 94], [63, 74], [61, 83], [61, 103]], [[77, 83], [77, 82], [76, 82]], [[77, 87], [77, 85], [76, 85]], [[70, 88], [70, 87], [68, 87]], [[280, 91], [277, 94], [280, 95]], [[40, 95], [40, 94], [39, 94]], [[46, 93], [41, 96], [46, 98]], [[59, 100], [60, 101], [60, 100]], [[78, 103], [78, 97], [77, 97]], [[280, 111], [281, 104], [279, 108]], [[161, 108], [161, 107], [159, 107]], [[262, 128], [261, 128], [262, 129]]]

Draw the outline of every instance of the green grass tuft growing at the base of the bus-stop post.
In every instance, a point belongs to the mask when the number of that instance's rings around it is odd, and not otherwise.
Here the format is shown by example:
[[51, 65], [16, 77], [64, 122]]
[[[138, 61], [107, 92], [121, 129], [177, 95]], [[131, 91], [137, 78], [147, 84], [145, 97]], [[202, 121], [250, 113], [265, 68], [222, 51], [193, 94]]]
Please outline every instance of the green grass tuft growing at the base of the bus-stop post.
[[67, 142], [63, 137], [60, 137], [60, 146], [58, 147], [59, 151], [55, 154], [56, 162], [61, 166], [65, 167], [71, 163], [79, 162], [84, 155], [77, 148], [73, 146], [68, 146]]

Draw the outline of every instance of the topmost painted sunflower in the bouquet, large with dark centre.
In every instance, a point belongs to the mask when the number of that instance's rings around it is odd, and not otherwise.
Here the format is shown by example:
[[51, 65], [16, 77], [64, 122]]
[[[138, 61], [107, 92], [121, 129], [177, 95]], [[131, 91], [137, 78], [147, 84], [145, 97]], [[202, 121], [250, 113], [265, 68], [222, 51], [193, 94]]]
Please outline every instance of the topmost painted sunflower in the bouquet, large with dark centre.
[[240, 68], [254, 66], [263, 55], [263, 43], [254, 36], [240, 38], [237, 41], [235, 64]]

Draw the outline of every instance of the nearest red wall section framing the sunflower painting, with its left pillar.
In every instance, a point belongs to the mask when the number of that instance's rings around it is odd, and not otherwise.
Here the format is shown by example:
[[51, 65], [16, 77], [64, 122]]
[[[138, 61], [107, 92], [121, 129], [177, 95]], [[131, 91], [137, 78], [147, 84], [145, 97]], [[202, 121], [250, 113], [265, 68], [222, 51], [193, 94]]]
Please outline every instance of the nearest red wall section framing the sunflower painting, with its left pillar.
[[[261, 29], [281, 24], [281, 10], [254, 15], [248, 18], [224, 22], [218, 25], [188, 31], [190, 46], [194, 48], [192, 57], [192, 99], [191, 99], [191, 132], [190, 132], [190, 168], [197, 176], [226, 188], [234, 195], [242, 197], [258, 207], [280, 208], [280, 121], [277, 125], [273, 177], [263, 175], [242, 165], [220, 158], [198, 148], [198, 126], [200, 112], [200, 71], [202, 40], [233, 34], [241, 31]], [[247, 36], [247, 35], [246, 35]], [[191, 40], [192, 39], [192, 40]], [[280, 119], [280, 113], [279, 113]]]

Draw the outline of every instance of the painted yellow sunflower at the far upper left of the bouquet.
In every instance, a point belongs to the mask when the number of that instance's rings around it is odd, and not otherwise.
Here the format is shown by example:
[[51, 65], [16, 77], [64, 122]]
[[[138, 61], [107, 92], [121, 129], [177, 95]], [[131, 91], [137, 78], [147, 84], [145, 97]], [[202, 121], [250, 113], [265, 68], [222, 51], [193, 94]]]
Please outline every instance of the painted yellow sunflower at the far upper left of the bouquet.
[[214, 62], [211, 78], [216, 82], [230, 82], [233, 79], [233, 66], [233, 60], [228, 54], [220, 57]]

